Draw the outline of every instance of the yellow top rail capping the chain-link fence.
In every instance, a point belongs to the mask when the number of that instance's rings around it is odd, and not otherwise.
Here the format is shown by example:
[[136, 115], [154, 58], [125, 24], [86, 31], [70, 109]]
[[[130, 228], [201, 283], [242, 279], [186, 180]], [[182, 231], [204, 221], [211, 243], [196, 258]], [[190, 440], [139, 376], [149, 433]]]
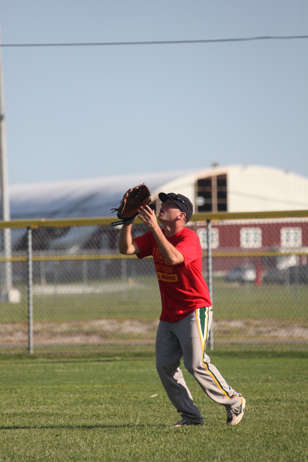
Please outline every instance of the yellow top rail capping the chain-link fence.
[[[271, 212], [218, 212], [218, 213], [194, 213], [192, 221], [206, 220], [234, 220], [234, 219], [261, 219], [261, 218], [298, 218], [308, 217], [308, 210], [274, 210]], [[117, 221], [116, 217], [92, 217], [92, 218], [58, 218], [58, 219], [22, 219], [0, 220], [0, 229], [3, 228], [54, 228], [68, 226], [106, 226]], [[135, 219], [135, 224], [142, 221]]]

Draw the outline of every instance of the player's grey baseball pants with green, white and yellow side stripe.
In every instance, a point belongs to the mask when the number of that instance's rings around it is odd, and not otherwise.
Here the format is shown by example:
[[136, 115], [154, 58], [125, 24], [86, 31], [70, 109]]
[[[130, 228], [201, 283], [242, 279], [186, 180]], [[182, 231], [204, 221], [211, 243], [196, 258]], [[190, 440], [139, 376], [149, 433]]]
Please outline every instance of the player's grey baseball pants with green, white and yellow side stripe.
[[212, 310], [199, 308], [177, 322], [160, 321], [156, 335], [156, 368], [169, 400], [183, 419], [203, 422], [185, 383], [180, 360], [213, 401], [227, 409], [239, 406], [240, 393], [232, 389], [205, 353]]

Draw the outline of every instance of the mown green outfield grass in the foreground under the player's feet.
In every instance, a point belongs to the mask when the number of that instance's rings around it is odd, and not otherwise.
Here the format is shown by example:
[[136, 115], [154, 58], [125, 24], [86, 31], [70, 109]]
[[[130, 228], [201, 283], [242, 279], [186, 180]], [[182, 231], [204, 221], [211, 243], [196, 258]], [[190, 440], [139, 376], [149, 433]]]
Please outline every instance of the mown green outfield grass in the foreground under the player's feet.
[[205, 425], [173, 428], [153, 357], [3, 358], [0, 461], [307, 461], [307, 355], [211, 360], [246, 397], [234, 428], [186, 371]]

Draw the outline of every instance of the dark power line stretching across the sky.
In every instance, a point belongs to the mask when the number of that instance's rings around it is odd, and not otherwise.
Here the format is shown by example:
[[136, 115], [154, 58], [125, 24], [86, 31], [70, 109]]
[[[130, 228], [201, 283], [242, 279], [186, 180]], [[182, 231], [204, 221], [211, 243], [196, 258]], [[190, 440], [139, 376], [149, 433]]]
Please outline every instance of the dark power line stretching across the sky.
[[153, 42], [91, 42], [91, 43], [2, 43], [0, 47], [93, 47], [93, 46], [116, 46], [116, 45], [174, 45], [181, 43], [221, 43], [221, 42], [249, 42], [253, 40], [292, 40], [308, 38], [308, 35], [294, 36], [260, 36], [244, 38], [214, 38], [205, 40], [159, 40]]

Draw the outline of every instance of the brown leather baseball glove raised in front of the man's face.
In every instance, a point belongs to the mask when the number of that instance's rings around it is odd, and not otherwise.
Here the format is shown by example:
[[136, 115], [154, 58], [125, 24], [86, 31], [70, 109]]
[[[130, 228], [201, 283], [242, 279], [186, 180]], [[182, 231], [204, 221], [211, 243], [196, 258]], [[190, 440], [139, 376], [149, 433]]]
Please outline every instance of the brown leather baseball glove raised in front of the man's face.
[[121, 220], [111, 223], [112, 226], [122, 225], [126, 221], [133, 222], [133, 219], [138, 215], [140, 207], [145, 207], [146, 205], [149, 205], [150, 202], [150, 189], [145, 186], [145, 183], [128, 189], [121, 200], [120, 207], [110, 209], [113, 211], [112, 213], [116, 211], [117, 217]]

